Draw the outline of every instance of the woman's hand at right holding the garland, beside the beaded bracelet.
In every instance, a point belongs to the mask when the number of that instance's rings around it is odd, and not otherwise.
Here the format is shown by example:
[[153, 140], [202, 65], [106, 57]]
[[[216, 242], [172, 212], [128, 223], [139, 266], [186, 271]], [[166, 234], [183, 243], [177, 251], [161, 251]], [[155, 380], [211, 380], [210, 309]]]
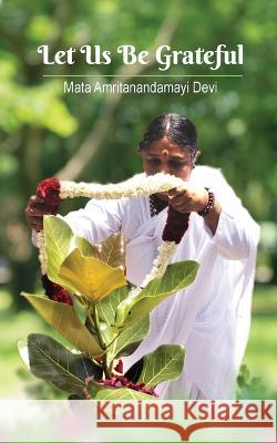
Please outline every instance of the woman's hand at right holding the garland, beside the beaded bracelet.
[[187, 187], [185, 190], [168, 192], [168, 203], [178, 213], [198, 213], [208, 204], [208, 193], [205, 188]]

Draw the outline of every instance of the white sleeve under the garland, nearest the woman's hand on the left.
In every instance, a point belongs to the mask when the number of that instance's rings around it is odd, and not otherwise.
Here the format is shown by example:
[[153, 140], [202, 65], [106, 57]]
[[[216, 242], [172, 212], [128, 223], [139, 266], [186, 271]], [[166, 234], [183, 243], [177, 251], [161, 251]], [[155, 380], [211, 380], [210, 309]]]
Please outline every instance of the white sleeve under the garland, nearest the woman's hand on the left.
[[121, 230], [122, 209], [119, 200], [92, 199], [84, 208], [61, 218], [68, 223], [74, 234], [93, 244], [103, 241], [111, 234]]

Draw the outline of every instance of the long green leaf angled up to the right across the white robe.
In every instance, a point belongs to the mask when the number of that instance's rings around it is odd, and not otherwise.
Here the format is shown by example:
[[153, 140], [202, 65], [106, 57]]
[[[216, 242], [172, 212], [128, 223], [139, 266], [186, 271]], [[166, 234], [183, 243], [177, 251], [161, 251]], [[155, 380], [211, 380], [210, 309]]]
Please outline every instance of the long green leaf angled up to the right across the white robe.
[[123, 300], [116, 311], [115, 326], [133, 324], [145, 317], [161, 301], [172, 293], [189, 286], [197, 275], [199, 265], [196, 261], [178, 261], [168, 265], [162, 278], [155, 278], [141, 291]]

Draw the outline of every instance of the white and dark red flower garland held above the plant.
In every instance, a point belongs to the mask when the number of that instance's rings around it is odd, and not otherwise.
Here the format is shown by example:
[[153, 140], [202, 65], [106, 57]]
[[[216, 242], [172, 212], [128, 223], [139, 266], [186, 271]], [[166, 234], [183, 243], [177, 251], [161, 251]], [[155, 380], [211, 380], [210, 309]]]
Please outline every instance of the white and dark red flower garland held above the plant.
[[[184, 190], [185, 183], [173, 175], [155, 174], [147, 177], [134, 176], [125, 182], [119, 184], [101, 185], [94, 183], [74, 183], [66, 181], [59, 181], [55, 177], [45, 178], [37, 188], [37, 195], [47, 205], [51, 205], [52, 212], [58, 213], [59, 204], [65, 198], [89, 197], [94, 199], [117, 199], [117, 198], [133, 198], [138, 196], [150, 196], [161, 192], [177, 188]], [[162, 244], [158, 247], [158, 254], [153, 262], [153, 268], [148, 275], [145, 276], [141, 287], [144, 288], [154, 278], [162, 277], [166, 266], [177, 249], [177, 245], [182, 240], [183, 235], [187, 230], [189, 222], [188, 213], [178, 213], [170, 205], [167, 212], [167, 219], [163, 230]], [[38, 247], [39, 260], [41, 264], [42, 275], [47, 275], [47, 256], [43, 231], [38, 233]], [[44, 278], [45, 280], [45, 278]], [[68, 296], [63, 293], [63, 288], [57, 284], [52, 284], [48, 279], [44, 284], [47, 295], [57, 301], [70, 303]], [[59, 291], [59, 295], [57, 295]], [[70, 299], [71, 300], [71, 299]]]

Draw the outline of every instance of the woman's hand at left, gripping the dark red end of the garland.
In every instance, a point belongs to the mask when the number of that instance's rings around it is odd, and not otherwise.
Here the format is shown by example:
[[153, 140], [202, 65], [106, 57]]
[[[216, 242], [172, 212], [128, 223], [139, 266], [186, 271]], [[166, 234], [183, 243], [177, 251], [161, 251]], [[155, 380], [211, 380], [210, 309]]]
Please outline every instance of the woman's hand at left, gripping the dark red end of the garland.
[[37, 233], [43, 229], [43, 215], [57, 215], [58, 205], [49, 205], [37, 195], [32, 195], [25, 208], [25, 219], [31, 229]]

